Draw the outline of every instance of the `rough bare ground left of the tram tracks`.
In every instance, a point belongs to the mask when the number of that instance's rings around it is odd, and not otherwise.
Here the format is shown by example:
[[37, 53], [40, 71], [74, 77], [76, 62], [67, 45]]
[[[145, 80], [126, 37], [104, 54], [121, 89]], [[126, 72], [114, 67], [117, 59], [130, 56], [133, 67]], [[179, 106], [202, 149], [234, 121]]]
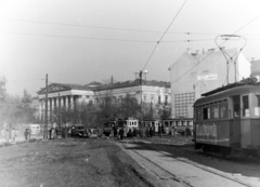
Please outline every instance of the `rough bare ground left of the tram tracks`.
[[68, 138], [0, 148], [1, 187], [159, 186], [114, 141]]

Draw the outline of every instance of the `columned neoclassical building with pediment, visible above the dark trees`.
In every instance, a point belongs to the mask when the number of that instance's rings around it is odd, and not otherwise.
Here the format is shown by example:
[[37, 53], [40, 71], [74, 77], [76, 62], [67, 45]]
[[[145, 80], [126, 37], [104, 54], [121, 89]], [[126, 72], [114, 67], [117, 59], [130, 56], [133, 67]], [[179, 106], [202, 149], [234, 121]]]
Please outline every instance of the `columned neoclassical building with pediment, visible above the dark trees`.
[[[48, 91], [48, 108], [46, 109], [46, 93]], [[101, 83], [91, 82], [86, 85], [52, 83], [48, 88], [43, 88], [37, 92], [38, 117], [40, 121], [44, 121], [44, 112], [52, 116], [55, 108], [74, 108], [81, 102], [96, 103], [99, 98], [113, 95], [115, 99], [121, 99], [127, 94], [135, 97], [139, 103], [152, 104], [170, 104], [171, 102], [170, 82], [140, 80], [116, 82], [116, 83]], [[50, 118], [48, 118], [50, 119]]]

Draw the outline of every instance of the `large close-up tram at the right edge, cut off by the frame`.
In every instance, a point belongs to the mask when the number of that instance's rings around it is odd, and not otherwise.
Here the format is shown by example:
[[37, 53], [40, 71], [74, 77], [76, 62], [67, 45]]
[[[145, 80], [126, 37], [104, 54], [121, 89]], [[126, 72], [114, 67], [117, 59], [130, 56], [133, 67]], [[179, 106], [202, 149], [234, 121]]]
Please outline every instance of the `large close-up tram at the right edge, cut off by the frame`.
[[195, 149], [260, 155], [260, 84], [233, 83], [203, 96], [194, 104]]

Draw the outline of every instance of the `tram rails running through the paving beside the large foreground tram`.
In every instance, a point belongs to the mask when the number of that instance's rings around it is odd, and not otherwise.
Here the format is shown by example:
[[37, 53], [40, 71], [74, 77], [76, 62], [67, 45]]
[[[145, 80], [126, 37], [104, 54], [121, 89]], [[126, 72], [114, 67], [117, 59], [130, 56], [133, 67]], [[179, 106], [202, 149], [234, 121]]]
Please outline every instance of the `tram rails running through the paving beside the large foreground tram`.
[[[141, 143], [142, 146], [145, 147], [146, 149], [150, 149], [150, 150], [159, 152], [159, 153], [168, 157], [168, 155], [164, 153], [162, 151], [158, 151], [158, 150], [156, 150], [156, 149], [154, 149], [154, 148], [151, 148], [150, 146], [145, 146], [145, 143], [142, 142], [142, 141], [134, 141], [134, 142], [135, 142], [135, 143]], [[126, 149], [126, 147], [127, 147], [127, 146], [125, 145], [123, 148]], [[178, 148], [179, 148], [179, 147], [178, 147]], [[186, 149], [182, 149], [182, 150], [188, 151], [188, 150], [186, 150]], [[159, 165], [158, 163], [154, 162], [153, 160], [151, 160], [151, 159], [148, 159], [147, 157], [145, 157], [145, 156], [143, 156], [142, 153], [140, 153], [136, 149], [131, 149], [131, 151], [135, 152], [136, 155], [139, 155], [140, 157], [142, 157], [143, 159], [145, 159], [146, 161], [151, 162], [152, 164], [156, 165], [157, 168], [159, 168], [160, 170], [162, 170], [164, 172], [166, 172], [167, 174], [169, 174], [170, 176], [172, 176], [171, 179], [173, 179], [173, 181], [176, 181], [176, 182], [178, 182], [178, 183], [181, 183], [181, 184], [183, 184], [184, 186], [194, 187], [190, 182], [183, 181], [183, 179], [180, 178], [178, 175], [171, 173], [170, 171], [166, 170], [165, 168], [162, 168], [162, 166]], [[205, 172], [208, 172], [208, 173], [210, 173], [210, 174], [217, 175], [217, 176], [219, 176], [219, 177], [225, 178], [225, 179], [231, 181], [231, 182], [233, 182], [233, 183], [239, 184], [239, 185], [242, 185], [242, 186], [246, 186], [246, 187], [257, 187], [256, 185], [251, 185], [251, 184], [242, 182], [242, 181], [239, 181], [239, 179], [232, 178], [232, 177], [226, 176], [226, 175], [224, 175], [224, 174], [221, 174], [221, 173], [219, 173], [219, 172], [214, 172], [214, 171], [212, 171], [212, 170], [210, 170], [210, 169], [208, 169], [208, 168], [206, 168], [206, 166], [202, 166], [202, 165], [199, 165], [199, 164], [193, 163], [193, 162], [191, 162], [191, 161], [182, 160], [182, 159], [179, 159], [179, 158], [174, 158], [174, 160], [178, 160], [179, 162], [183, 162], [183, 163], [190, 164], [190, 165], [192, 165], [192, 166], [195, 166], [195, 168], [197, 168], [197, 169], [200, 169], [200, 170], [203, 170], [203, 171], [205, 171]], [[160, 177], [160, 176], [158, 176], [158, 177]]]

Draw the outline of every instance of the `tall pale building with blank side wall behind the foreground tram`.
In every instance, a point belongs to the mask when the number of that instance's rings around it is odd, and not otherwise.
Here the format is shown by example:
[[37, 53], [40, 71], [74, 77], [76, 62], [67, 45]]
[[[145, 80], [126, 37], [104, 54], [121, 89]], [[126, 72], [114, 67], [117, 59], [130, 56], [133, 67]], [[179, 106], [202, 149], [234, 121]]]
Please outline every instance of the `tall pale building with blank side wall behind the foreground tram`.
[[170, 66], [172, 118], [193, 118], [193, 104], [203, 93], [250, 76], [250, 63], [237, 49], [221, 50], [187, 49]]

